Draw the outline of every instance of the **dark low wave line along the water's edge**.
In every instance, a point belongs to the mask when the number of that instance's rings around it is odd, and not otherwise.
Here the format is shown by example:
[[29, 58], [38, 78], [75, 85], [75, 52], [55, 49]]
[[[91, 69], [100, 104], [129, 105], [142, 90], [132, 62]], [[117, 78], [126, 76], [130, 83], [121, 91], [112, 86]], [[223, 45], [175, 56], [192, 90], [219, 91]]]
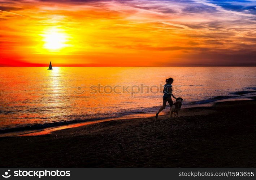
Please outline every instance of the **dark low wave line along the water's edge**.
[[[194, 101], [194, 102], [188, 102], [184, 103], [184, 105], [194, 105], [194, 104], [206, 104], [206, 103], [212, 103], [217, 100], [224, 100], [224, 99], [229, 99], [229, 98], [243, 98], [244, 95], [250, 94], [250, 93], [256, 93], [256, 88], [255, 87], [249, 87], [246, 89], [248, 90], [242, 90], [242, 91], [235, 91], [230, 93], [231, 95], [228, 96], [214, 96], [213, 98], [210, 99], [204, 99], [204, 100], [199, 100], [199, 101]], [[96, 121], [96, 120], [104, 120], [107, 118], [120, 118], [122, 116], [130, 115], [130, 114], [138, 114], [138, 113], [150, 113], [150, 112], [155, 112], [157, 111], [159, 106], [153, 106], [150, 108], [139, 108], [139, 109], [130, 109], [130, 110], [123, 110], [120, 111], [119, 113], [112, 113], [112, 116], [109, 116], [109, 114], [105, 114], [105, 117], [102, 117], [103, 114], [95, 114], [95, 118], [85, 118], [85, 116], [60, 116], [59, 119], [72, 119], [69, 121], [60, 121], [60, 122], [51, 122], [51, 123], [38, 123], [38, 124], [32, 124], [28, 125], [26, 124], [25, 126], [19, 126], [19, 127], [10, 127], [10, 128], [4, 128], [0, 129], [0, 133], [6, 133], [6, 132], [14, 132], [14, 131], [25, 131], [25, 130], [38, 130], [38, 129], [44, 129], [48, 127], [55, 127], [55, 126], [63, 126], [63, 125], [69, 125], [71, 123], [79, 123], [79, 122], [88, 122], [88, 121]]]

